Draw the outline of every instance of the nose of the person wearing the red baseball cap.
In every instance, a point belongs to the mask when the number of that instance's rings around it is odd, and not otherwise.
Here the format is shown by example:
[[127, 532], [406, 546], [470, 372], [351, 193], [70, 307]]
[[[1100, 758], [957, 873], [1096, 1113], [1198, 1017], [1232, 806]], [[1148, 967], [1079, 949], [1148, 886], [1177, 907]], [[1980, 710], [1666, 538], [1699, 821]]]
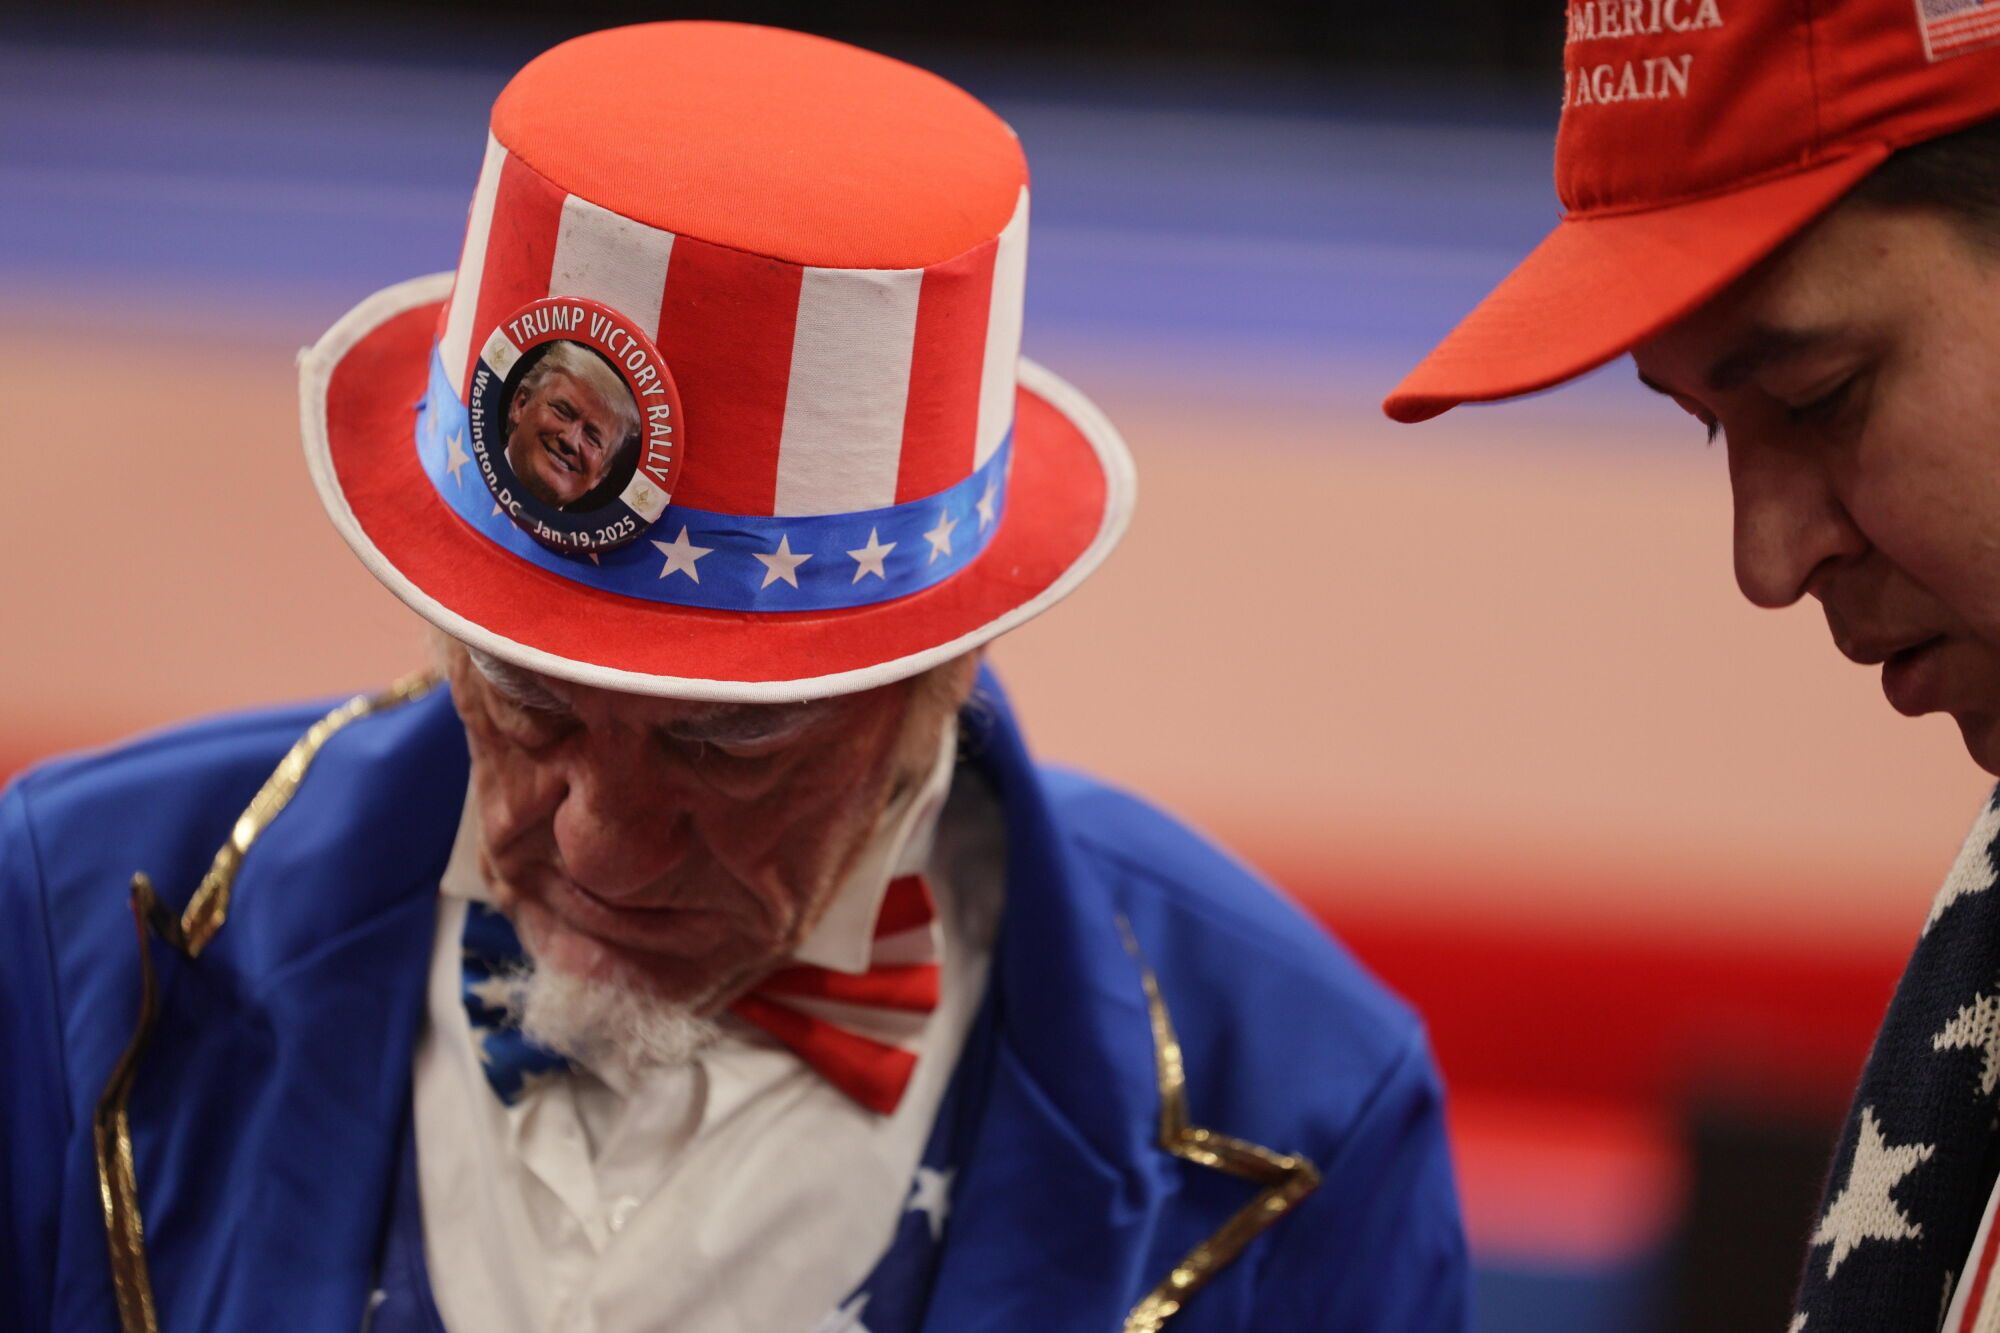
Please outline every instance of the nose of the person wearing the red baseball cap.
[[1790, 606], [1830, 560], [1868, 548], [1814, 456], [1784, 442], [1730, 438], [1736, 586], [1756, 606]]

